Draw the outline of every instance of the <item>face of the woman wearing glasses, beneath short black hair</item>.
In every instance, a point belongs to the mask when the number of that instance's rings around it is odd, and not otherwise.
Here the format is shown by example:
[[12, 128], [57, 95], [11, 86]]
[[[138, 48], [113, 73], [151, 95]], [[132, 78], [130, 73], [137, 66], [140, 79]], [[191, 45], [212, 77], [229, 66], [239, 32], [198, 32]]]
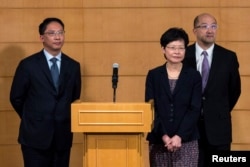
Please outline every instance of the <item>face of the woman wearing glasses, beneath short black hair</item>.
[[162, 52], [169, 63], [180, 63], [185, 56], [185, 43], [184, 40], [176, 40], [167, 44]]

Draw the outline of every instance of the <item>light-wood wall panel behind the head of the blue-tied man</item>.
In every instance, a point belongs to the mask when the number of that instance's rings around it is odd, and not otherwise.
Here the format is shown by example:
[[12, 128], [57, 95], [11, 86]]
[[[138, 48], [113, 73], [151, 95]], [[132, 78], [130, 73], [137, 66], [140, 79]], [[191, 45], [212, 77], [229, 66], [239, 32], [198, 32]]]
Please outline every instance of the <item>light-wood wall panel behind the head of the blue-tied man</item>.
[[0, 14], [0, 42], [39, 41], [38, 26], [46, 17], [63, 20], [67, 41], [83, 40], [82, 9], [0, 9]]

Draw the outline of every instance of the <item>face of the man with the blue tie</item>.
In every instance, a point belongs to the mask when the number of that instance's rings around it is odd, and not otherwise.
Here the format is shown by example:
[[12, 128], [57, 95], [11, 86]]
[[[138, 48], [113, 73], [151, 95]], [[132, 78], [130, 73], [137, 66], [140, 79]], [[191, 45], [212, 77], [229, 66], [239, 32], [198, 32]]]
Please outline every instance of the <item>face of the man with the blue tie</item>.
[[58, 54], [64, 44], [63, 27], [57, 22], [51, 22], [47, 25], [44, 34], [40, 35], [40, 39], [46, 51], [52, 55]]

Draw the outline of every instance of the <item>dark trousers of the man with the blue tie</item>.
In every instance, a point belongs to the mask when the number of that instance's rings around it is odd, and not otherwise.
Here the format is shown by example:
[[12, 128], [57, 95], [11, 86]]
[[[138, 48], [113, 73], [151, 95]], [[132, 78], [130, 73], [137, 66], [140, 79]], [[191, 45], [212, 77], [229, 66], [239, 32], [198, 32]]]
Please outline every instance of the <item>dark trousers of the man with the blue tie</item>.
[[69, 167], [70, 149], [41, 150], [21, 145], [24, 167]]

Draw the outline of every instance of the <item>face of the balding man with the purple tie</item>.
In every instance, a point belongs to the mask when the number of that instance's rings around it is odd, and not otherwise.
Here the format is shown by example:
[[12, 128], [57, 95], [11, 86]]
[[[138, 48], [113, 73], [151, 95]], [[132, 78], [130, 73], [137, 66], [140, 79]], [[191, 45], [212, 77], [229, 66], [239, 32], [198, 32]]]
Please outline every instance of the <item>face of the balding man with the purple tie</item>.
[[193, 32], [198, 44], [201, 46], [211, 46], [216, 39], [217, 23], [210, 15], [202, 15], [195, 26]]

